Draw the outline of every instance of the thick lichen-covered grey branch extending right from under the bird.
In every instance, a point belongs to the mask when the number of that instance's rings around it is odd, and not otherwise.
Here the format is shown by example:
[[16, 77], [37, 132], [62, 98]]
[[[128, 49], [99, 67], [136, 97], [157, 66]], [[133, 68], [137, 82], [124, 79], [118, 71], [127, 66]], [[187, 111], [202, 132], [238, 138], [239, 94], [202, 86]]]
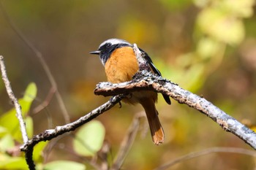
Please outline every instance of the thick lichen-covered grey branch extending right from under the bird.
[[[134, 50], [135, 52], [138, 51], [136, 45], [134, 46]], [[143, 58], [143, 53], [136, 53], [136, 55], [137, 58]], [[140, 61], [143, 62], [143, 60]], [[146, 61], [144, 60], [144, 62]], [[143, 66], [143, 63], [140, 63], [139, 66]], [[197, 96], [188, 90], [184, 90], [177, 84], [170, 82], [170, 80], [166, 80], [157, 74], [152, 74], [147, 70], [140, 69], [140, 71], [135, 74], [132, 81], [129, 82], [122, 82], [119, 84], [99, 82], [94, 93], [96, 95], [113, 96], [138, 90], [154, 90], [157, 93], [172, 97], [180, 104], [187, 104], [189, 107], [197, 109], [204, 115], [211, 117], [211, 119], [217, 122], [225, 131], [235, 134], [256, 150], [256, 134], [254, 131], [247, 128], [230, 115], [227, 115], [205, 98]]]

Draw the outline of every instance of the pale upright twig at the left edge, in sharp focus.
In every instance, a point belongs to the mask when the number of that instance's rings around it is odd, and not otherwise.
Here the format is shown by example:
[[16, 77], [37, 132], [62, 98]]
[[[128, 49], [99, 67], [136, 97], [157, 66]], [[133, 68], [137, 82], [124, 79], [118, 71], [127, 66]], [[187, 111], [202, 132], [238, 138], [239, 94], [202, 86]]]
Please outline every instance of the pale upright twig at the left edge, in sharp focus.
[[4, 80], [4, 85], [5, 85], [5, 88], [7, 89], [8, 96], [10, 97], [12, 104], [15, 107], [16, 117], [18, 118], [19, 123], [20, 123], [20, 131], [22, 134], [23, 142], [26, 143], [29, 141], [28, 134], [26, 133], [26, 124], [22, 117], [20, 104], [18, 103], [17, 98], [15, 97], [14, 93], [12, 92], [12, 87], [11, 87], [10, 81], [8, 80], [7, 72], [6, 72], [6, 69], [4, 66], [4, 57], [1, 55], [0, 55], [0, 66], [1, 66], [1, 77]]

